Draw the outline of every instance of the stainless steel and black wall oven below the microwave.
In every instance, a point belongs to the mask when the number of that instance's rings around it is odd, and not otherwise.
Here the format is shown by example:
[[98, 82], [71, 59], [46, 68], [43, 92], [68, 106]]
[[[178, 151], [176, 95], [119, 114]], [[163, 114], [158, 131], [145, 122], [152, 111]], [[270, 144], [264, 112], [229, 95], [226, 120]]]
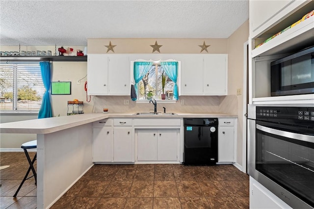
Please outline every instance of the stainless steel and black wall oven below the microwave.
[[248, 173], [292, 208], [314, 208], [314, 105], [248, 107]]

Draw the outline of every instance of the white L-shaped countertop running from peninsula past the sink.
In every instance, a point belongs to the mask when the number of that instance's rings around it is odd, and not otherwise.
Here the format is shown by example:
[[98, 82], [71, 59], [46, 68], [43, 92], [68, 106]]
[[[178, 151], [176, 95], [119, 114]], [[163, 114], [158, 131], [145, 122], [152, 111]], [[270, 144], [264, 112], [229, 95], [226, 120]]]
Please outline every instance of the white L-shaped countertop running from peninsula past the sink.
[[0, 123], [1, 133], [49, 134], [91, 123], [108, 117], [118, 118], [183, 118], [183, 117], [237, 117], [224, 113], [176, 113], [177, 115], [133, 115], [134, 113], [87, 113], [72, 116], [49, 117]]

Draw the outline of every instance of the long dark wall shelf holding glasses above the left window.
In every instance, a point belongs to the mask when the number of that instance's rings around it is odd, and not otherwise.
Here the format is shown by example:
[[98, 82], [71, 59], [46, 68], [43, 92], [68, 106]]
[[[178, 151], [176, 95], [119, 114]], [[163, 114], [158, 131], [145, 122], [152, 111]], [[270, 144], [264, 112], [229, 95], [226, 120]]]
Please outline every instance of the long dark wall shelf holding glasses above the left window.
[[0, 61], [87, 62], [87, 56], [0, 56]]

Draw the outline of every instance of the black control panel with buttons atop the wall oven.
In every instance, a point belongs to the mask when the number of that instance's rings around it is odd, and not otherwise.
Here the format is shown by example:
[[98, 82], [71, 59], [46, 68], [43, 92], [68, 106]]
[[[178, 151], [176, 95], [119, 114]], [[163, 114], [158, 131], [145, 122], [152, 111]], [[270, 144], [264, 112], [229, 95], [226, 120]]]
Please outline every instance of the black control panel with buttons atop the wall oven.
[[256, 107], [256, 119], [314, 127], [314, 107]]

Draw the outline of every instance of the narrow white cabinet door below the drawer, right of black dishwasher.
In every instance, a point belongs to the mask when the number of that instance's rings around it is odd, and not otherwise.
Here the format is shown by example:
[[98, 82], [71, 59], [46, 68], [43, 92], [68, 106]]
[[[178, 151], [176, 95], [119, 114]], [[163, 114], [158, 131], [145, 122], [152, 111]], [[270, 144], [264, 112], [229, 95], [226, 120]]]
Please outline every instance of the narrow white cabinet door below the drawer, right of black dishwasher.
[[233, 126], [219, 126], [218, 162], [234, 162]]

